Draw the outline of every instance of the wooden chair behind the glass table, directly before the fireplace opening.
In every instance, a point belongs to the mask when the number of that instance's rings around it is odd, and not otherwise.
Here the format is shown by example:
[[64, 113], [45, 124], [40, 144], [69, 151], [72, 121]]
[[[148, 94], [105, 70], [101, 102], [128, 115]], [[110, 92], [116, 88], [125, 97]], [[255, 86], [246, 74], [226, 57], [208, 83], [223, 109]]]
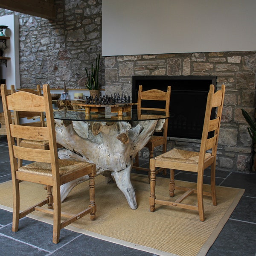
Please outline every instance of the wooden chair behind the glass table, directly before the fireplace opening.
[[[166, 114], [169, 114], [169, 106], [170, 106], [170, 97], [171, 97], [171, 86], [167, 87], [167, 92], [162, 90], [152, 89], [143, 91], [142, 85], [139, 86], [139, 93], [138, 93], [138, 110], [153, 110], [153, 111], [165, 111]], [[143, 106], [143, 101], [152, 101], [150, 107]], [[163, 101], [165, 102], [165, 108], [154, 108], [154, 102], [156, 101]], [[166, 145], [167, 145], [167, 128], [168, 128], [168, 119], [166, 119], [163, 125], [163, 136], [153, 135], [149, 139], [148, 143], [145, 145], [145, 148], [149, 150], [149, 157], [154, 157], [154, 148], [160, 145], [163, 145], [163, 153], [166, 152]], [[143, 170], [148, 172], [148, 178], [150, 178], [150, 169], [140, 167], [139, 163], [139, 155], [137, 154], [135, 157], [135, 162], [133, 164], [133, 169], [136, 170]], [[159, 168], [156, 172], [163, 171], [166, 175], [165, 168]]]

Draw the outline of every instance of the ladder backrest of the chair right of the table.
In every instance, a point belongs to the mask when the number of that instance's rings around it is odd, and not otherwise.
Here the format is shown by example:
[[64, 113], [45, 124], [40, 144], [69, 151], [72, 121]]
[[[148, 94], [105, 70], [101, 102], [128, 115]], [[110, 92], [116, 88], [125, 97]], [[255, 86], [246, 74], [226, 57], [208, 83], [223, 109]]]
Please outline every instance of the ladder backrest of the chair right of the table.
[[[204, 161], [204, 154], [207, 150], [212, 149], [212, 156], [216, 157], [217, 153], [217, 145], [218, 145], [218, 135], [220, 131], [221, 125], [221, 114], [224, 103], [224, 95], [225, 95], [225, 85], [222, 84], [221, 90], [217, 90], [214, 93], [214, 85], [210, 85], [208, 97], [207, 97], [207, 105], [204, 116], [204, 127], [201, 139], [201, 148], [199, 160]], [[211, 119], [212, 108], [217, 108], [217, 112], [214, 119]], [[195, 113], [196, 114], [196, 113]], [[213, 132], [214, 135], [209, 137], [209, 132]]]

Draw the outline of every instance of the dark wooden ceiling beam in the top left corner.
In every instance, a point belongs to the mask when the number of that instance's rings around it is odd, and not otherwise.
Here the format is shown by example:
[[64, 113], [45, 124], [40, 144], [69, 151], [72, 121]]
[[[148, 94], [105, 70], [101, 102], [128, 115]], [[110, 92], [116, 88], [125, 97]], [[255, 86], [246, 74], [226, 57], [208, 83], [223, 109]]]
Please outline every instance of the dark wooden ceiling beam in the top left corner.
[[0, 0], [0, 8], [45, 19], [56, 18], [54, 0]]

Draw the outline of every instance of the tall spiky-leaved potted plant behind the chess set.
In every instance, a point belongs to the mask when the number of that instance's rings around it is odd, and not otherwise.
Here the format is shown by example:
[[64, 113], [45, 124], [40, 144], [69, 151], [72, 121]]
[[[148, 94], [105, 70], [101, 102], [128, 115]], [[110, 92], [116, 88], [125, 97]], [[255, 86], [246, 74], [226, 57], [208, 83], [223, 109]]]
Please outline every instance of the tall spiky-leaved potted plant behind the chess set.
[[87, 68], [85, 68], [85, 72], [87, 75], [87, 80], [85, 81], [85, 86], [90, 91], [90, 96], [95, 97], [95, 95], [100, 94], [99, 90], [99, 59], [100, 59], [100, 53], [99, 56], [96, 58], [95, 61], [95, 67], [91, 66], [91, 70], [89, 71]]

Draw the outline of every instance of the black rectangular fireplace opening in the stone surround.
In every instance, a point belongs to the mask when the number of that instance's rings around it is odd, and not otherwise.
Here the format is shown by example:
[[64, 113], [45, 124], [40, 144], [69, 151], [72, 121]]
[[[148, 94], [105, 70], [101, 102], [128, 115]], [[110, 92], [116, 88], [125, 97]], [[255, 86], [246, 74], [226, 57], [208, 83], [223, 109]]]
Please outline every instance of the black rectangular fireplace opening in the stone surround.
[[[143, 90], [163, 91], [170, 85], [170, 113], [173, 117], [169, 118], [168, 137], [201, 140], [210, 84], [216, 90], [216, 76], [133, 76], [132, 99], [137, 102], [139, 85], [143, 86]], [[143, 103], [144, 106], [152, 105], [150, 101]], [[164, 102], [154, 104], [156, 108], [164, 108]], [[212, 117], [214, 115], [215, 110]]]

